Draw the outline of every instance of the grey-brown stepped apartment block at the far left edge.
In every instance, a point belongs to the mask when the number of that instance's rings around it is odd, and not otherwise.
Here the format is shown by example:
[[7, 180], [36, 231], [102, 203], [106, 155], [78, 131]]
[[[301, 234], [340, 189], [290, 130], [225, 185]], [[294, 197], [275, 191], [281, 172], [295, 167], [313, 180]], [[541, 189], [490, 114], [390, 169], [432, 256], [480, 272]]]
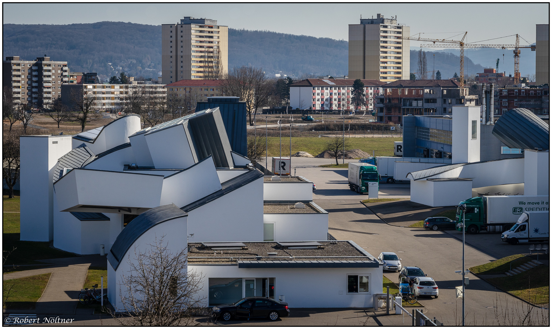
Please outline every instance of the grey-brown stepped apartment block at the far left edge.
[[50, 57], [22, 61], [9, 56], [2, 62], [2, 72], [2, 85], [12, 88], [15, 103], [43, 109], [59, 96], [61, 85], [68, 83], [69, 68], [67, 62], [50, 61]]

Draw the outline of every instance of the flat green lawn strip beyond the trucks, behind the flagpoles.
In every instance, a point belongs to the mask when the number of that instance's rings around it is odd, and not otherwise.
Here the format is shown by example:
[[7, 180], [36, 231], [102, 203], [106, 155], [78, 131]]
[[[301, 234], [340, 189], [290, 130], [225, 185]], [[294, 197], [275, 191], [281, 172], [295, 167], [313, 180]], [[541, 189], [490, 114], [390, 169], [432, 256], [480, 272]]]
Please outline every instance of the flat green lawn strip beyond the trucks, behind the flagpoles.
[[[289, 135], [287, 138], [284, 136], [282, 136], [282, 157], [285, 157], [285, 156], [289, 157]], [[316, 157], [316, 155], [322, 153], [326, 143], [329, 140], [330, 138], [327, 138], [327, 137], [291, 137], [291, 154], [295, 154], [299, 151], [304, 151]], [[402, 141], [401, 137], [386, 137], [386, 138], [351, 137], [349, 138], [351, 149], [358, 148], [370, 154], [372, 154], [372, 151], [375, 150], [377, 157], [392, 156], [394, 154], [393, 142], [400, 142], [400, 141]], [[268, 156], [279, 157], [279, 155], [280, 155], [280, 138], [268, 137]], [[332, 160], [332, 159], [328, 159], [328, 160]]]

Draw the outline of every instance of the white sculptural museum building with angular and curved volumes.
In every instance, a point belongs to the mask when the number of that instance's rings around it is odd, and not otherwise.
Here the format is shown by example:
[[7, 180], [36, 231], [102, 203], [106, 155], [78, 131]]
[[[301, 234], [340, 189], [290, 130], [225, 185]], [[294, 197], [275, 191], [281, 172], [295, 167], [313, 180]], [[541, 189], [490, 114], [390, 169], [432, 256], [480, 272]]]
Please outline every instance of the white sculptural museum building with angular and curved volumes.
[[188, 250], [209, 306], [270, 296], [292, 308], [367, 308], [382, 292], [374, 256], [328, 239], [312, 182], [272, 181], [233, 152], [218, 108], [145, 129], [127, 115], [20, 141], [21, 240], [79, 255], [104, 246], [115, 308], [135, 252], [161, 236], [171, 252]]

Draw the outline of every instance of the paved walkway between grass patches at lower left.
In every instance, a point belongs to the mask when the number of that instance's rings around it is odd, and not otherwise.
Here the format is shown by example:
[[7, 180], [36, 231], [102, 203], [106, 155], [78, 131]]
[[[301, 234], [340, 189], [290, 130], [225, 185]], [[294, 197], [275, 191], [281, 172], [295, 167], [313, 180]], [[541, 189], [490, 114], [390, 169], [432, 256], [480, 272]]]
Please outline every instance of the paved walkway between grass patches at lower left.
[[[33, 311], [36, 314], [75, 314], [78, 294], [81, 293], [88, 267], [105, 267], [107, 265], [105, 256], [96, 255], [41, 261], [54, 265], [28, 271], [6, 273], [3, 276], [3, 279], [7, 280], [52, 273], [44, 293], [36, 303], [36, 310]], [[9, 311], [11, 312], [11, 310]]]

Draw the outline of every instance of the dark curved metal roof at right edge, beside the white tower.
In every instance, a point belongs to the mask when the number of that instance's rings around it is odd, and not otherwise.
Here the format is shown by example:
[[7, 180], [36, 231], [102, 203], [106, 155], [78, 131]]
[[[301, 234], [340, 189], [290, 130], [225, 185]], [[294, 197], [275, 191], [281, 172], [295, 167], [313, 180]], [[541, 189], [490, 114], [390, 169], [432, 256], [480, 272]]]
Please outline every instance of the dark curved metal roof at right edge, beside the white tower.
[[513, 109], [495, 123], [492, 134], [509, 148], [550, 148], [550, 127], [528, 109]]

